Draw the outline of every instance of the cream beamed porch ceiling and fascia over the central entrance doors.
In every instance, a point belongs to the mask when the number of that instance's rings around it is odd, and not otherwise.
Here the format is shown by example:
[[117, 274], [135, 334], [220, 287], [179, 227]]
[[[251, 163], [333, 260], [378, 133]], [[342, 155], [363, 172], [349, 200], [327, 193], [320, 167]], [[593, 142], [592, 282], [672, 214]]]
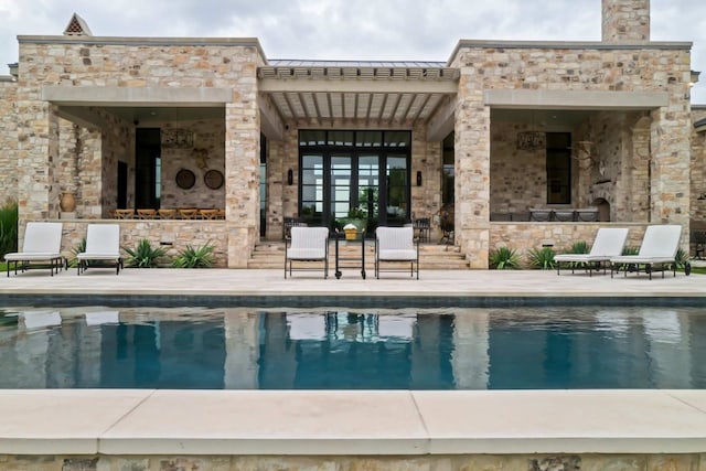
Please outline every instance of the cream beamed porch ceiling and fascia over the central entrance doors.
[[427, 122], [456, 94], [459, 78], [440, 63], [272, 61], [257, 74], [284, 121]]

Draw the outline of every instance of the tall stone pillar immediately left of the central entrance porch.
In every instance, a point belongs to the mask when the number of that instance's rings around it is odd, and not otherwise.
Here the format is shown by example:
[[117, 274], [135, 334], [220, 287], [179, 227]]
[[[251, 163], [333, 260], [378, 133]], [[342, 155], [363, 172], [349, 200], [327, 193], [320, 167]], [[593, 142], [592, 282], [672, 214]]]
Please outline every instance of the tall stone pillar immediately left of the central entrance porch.
[[225, 107], [225, 211], [228, 268], [247, 268], [259, 238], [260, 127], [255, 72], [243, 77]]

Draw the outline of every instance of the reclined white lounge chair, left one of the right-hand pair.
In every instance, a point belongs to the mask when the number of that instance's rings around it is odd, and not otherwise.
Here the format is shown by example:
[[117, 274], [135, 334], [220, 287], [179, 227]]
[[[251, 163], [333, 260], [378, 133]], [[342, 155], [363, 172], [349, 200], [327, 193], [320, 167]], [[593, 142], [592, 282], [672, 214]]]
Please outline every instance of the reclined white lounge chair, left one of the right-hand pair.
[[611, 257], [622, 254], [628, 239], [628, 228], [624, 227], [601, 227], [596, 234], [596, 239], [588, 254], [558, 254], [554, 256], [556, 261], [556, 274], [559, 275], [561, 264], [571, 264], [571, 272], [576, 267], [582, 266], [588, 269], [591, 276], [593, 269], [603, 266], [603, 275], [606, 267], [610, 264]]

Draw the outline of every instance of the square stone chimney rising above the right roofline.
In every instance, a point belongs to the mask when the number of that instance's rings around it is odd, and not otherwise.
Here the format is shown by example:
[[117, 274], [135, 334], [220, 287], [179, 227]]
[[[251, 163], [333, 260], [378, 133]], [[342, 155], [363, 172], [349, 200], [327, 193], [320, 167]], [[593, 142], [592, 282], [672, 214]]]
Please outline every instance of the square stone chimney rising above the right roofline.
[[601, 0], [602, 41], [650, 41], [650, 0]]

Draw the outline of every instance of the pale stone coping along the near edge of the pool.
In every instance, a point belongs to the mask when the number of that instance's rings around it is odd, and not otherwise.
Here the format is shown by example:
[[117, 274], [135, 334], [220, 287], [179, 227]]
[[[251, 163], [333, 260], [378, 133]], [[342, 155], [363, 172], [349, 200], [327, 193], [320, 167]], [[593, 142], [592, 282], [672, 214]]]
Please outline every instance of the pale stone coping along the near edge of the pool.
[[4, 389], [0, 416], [9, 454], [706, 450], [702, 390]]

